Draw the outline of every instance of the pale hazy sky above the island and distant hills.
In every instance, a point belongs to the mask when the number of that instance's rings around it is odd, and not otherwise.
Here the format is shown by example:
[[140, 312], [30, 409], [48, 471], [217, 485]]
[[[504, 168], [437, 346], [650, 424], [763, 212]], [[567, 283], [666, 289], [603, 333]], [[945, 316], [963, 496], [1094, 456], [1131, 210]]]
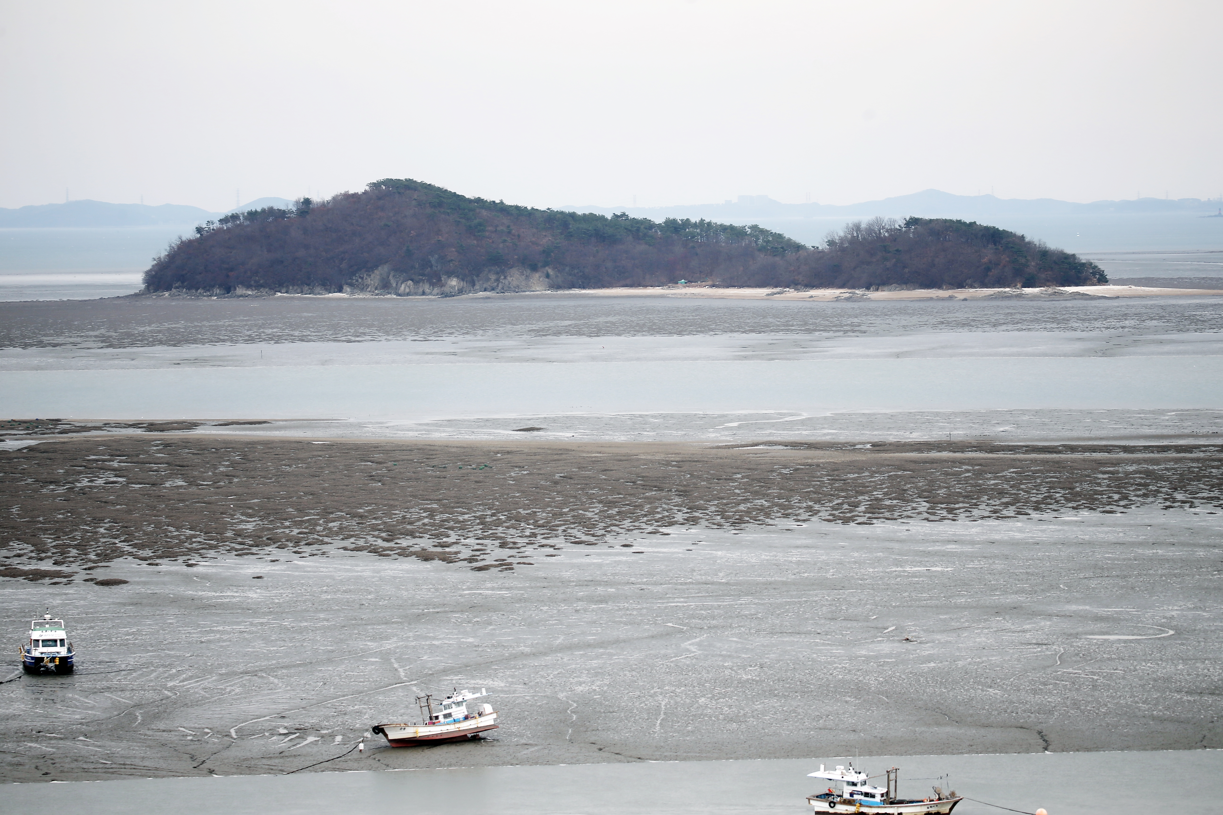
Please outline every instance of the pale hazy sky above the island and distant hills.
[[0, 1], [0, 206], [1223, 192], [1217, 0]]

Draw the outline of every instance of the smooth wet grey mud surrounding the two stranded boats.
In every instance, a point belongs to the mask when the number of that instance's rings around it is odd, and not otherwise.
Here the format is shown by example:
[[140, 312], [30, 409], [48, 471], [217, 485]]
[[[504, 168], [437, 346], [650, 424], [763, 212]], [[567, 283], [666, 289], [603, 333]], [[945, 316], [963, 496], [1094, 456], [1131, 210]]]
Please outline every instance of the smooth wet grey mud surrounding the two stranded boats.
[[[1217, 748], [1218, 518], [673, 527], [514, 572], [125, 560], [56, 587], [81, 668], [5, 685], [4, 775]], [[6, 589], [6, 619], [48, 596]], [[455, 685], [495, 694], [492, 739], [338, 758]]]

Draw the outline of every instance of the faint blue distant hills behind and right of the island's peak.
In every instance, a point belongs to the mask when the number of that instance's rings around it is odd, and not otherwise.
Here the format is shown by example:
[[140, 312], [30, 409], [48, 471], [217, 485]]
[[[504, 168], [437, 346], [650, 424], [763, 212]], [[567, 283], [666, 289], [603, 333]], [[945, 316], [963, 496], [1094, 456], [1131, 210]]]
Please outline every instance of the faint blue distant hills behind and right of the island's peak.
[[[895, 196], [861, 204], [783, 204], [768, 196], [740, 196], [737, 200], [720, 204], [685, 204], [680, 206], [561, 206], [575, 213], [612, 215], [627, 213], [634, 217], [660, 221], [667, 217], [704, 217], [744, 220], [752, 217], [872, 217], [883, 215], [905, 217], [991, 219], [1015, 215], [1157, 215], [1184, 213], [1211, 215], [1221, 202], [1200, 198], [1139, 198], [1134, 200], [1096, 200], [1075, 204], [1053, 198], [996, 198], [994, 196], [954, 196], [939, 189], [923, 189], [909, 196]], [[775, 228], [775, 227], [774, 227]]]

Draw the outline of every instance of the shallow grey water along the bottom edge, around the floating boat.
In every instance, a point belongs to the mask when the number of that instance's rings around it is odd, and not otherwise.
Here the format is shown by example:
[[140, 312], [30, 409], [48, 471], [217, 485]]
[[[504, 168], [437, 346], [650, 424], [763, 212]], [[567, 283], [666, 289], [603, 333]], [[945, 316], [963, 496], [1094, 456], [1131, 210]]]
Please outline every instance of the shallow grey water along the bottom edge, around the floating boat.
[[[196, 815], [379, 811], [413, 815], [783, 815], [810, 813], [805, 797], [819, 792], [806, 773], [824, 762], [674, 761], [560, 766], [456, 767], [389, 772], [287, 776], [147, 778], [7, 784], [10, 811], [157, 811], [169, 800], [191, 802]], [[900, 767], [900, 794], [923, 797], [933, 784], [964, 800], [956, 815], [1002, 813], [1007, 806], [1049, 815], [1214, 811], [1223, 798], [1223, 751], [1044, 753], [1011, 755], [872, 756], [868, 772]], [[1174, 787], [1170, 789], [1169, 787]], [[988, 802], [993, 806], [982, 802]], [[1168, 810], [1172, 811], [1172, 810]]]

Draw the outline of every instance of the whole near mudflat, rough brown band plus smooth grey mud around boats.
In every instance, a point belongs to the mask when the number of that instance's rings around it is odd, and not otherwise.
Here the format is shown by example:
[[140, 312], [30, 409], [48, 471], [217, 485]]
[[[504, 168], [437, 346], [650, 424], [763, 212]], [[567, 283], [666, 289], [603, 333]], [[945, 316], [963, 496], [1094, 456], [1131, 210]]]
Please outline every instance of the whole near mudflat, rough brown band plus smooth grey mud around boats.
[[[157, 434], [0, 462], [5, 628], [50, 606], [79, 663], [0, 672], [6, 781], [1223, 747], [1217, 445]], [[454, 687], [493, 694], [492, 738], [350, 751]]]

